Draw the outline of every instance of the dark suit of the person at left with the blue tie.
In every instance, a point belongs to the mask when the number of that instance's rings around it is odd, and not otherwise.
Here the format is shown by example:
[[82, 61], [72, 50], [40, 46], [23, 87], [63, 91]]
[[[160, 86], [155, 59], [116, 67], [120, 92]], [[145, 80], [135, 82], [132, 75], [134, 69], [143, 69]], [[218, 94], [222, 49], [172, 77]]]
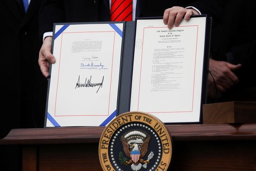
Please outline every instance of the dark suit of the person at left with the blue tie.
[[[31, 0], [25, 14], [22, 0], [0, 0], [0, 51], [3, 71], [0, 138], [14, 128], [34, 127], [33, 113], [36, 113], [36, 119], [40, 115], [44, 117], [37, 110], [44, 112], [45, 101], [40, 102], [43, 106], [39, 108], [34, 106], [36, 89], [44, 79], [38, 66], [41, 45], [38, 9], [42, 2], [43, 0]], [[39, 96], [38, 93], [37, 95]], [[43, 125], [43, 121], [40, 124]]]

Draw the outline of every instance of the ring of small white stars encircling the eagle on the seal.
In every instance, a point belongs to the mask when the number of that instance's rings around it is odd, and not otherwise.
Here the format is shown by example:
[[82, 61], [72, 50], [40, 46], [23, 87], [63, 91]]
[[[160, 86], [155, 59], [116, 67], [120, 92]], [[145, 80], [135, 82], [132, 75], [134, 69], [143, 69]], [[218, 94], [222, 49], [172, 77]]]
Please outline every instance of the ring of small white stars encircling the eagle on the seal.
[[159, 138], [157, 137], [157, 135], [156, 135], [156, 133], [150, 128], [150, 127], [148, 127], [148, 126], [146, 126], [146, 125], [143, 125], [143, 124], [129, 124], [129, 125], [126, 125], [126, 126], [124, 126], [124, 127], [122, 127], [120, 130], [118, 130], [117, 131], [117, 133], [115, 134], [115, 136], [114, 136], [114, 138], [113, 138], [113, 140], [112, 140], [112, 142], [111, 142], [111, 148], [110, 148], [110, 158], [111, 158], [111, 160], [112, 160], [112, 162], [114, 163], [114, 166], [116, 167], [116, 169], [118, 170], [118, 171], [123, 171], [119, 166], [117, 166], [117, 164], [116, 164], [116, 161], [115, 161], [115, 158], [114, 158], [114, 155], [113, 155], [113, 148], [114, 148], [114, 144], [115, 144], [115, 140], [116, 140], [116, 138], [117, 138], [117, 136], [123, 131], [123, 130], [125, 130], [126, 128], [128, 128], [128, 127], [132, 127], [132, 126], [140, 126], [140, 127], [143, 127], [143, 128], [145, 128], [145, 129], [147, 129], [148, 131], [150, 131], [153, 135], [154, 135], [154, 137], [155, 137], [155, 139], [156, 139], [156, 141], [157, 141], [157, 143], [158, 143], [158, 156], [157, 156], [157, 159], [156, 159], [156, 162], [154, 163], [154, 165], [153, 165], [153, 167], [151, 167], [151, 169], [149, 169], [149, 171], [153, 171], [154, 170], [154, 168], [158, 165], [158, 162], [159, 162], [159, 160], [160, 160], [160, 156], [161, 156], [161, 144], [160, 144], [160, 140], [159, 140]]

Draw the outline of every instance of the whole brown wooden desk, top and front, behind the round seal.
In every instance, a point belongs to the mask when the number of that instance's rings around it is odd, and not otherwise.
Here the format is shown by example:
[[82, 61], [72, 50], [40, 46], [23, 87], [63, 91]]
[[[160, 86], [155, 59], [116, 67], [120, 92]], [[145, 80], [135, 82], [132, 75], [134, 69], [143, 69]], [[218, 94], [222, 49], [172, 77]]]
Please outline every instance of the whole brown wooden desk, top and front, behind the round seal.
[[[256, 124], [167, 125], [172, 171], [256, 171]], [[100, 171], [104, 127], [12, 130], [0, 145], [23, 147], [23, 171]]]

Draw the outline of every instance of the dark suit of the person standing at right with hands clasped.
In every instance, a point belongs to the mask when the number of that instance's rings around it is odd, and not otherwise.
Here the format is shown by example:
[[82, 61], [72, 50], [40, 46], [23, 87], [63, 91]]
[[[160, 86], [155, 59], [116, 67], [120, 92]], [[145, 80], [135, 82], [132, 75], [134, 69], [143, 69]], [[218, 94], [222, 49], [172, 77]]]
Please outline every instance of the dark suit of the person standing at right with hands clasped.
[[[256, 101], [256, 26], [252, 24], [255, 6], [255, 1], [226, 0], [223, 20], [212, 32], [212, 58], [242, 64], [235, 71], [239, 83], [219, 101]], [[228, 60], [226, 54], [233, 58]]]

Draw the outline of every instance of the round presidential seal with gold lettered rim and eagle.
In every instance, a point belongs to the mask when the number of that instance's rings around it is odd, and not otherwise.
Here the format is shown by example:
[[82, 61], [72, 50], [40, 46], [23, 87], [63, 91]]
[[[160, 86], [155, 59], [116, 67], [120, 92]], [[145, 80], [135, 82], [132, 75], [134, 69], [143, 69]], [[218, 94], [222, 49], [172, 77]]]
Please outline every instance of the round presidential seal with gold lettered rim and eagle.
[[156, 117], [127, 112], [103, 131], [99, 157], [104, 171], [165, 171], [171, 162], [172, 140]]

